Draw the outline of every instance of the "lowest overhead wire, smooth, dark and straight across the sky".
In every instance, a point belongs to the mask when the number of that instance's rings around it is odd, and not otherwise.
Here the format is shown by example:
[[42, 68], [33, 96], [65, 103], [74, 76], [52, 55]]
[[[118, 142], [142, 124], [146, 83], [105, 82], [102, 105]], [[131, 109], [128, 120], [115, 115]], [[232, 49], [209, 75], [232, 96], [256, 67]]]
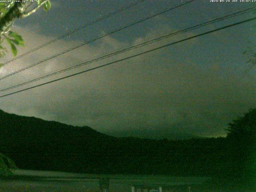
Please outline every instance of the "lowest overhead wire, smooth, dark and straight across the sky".
[[117, 62], [121, 62], [121, 61], [124, 61], [124, 60], [127, 60], [127, 59], [130, 59], [130, 58], [134, 58], [136, 56], [140, 56], [142, 54], [146, 54], [146, 53], [149, 53], [149, 52], [152, 52], [152, 51], [156, 51], [158, 49], [161, 49], [161, 48], [165, 48], [165, 47], [168, 47], [168, 46], [171, 46], [171, 45], [174, 45], [174, 44], [178, 44], [180, 42], [184, 42], [186, 40], [190, 40], [190, 39], [193, 39], [193, 38], [197, 38], [197, 37], [200, 37], [200, 36], [203, 36], [203, 35], [206, 35], [206, 34], [210, 34], [212, 32], [216, 32], [216, 31], [219, 31], [219, 30], [222, 30], [222, 29], [226, 29], [226, 28], [229, 28], [229, 27], [232, 27], [232, 26], [236, 26], [236, 25], [239, 25], [239, 24], [242, 24], [242, 23], [245, 23], [245, 22], [249, 22], [249, 21], [252, 21], [252, 20], [255, 20], [256, 17], [254, 18], [250, 18], [250, 19], [247, 19], [247, 20], [243, 20], [243, 21], [240, 21], [240, 22], [236, 22], [234, 24], [230, 24], [230, 25], [227, 25], [227, 26], [224, 26], [224, 27], [221, 27], [221, 28], [217, 28], [217, 29], [214, 29], [214, 30], [210, 30], [208, 32], [204, 32], [204, 33], [201, 33], [201, 34], [198, 34], [198, 35], [194, 35], [194, 36], [191, 36], [191, 37], [188, 37], [188, 38], [184, 38], [182, 40], [178, 40], [176, 42], [172, 42], [172, 43], [169, 43], [169, 44], [166, 44], [164, 46], [158, 46], [157, 48], [154, 48], [154, 49], [150, 49], [148, 51], [145, 51], [145, 52], [142, 52], [142, 53], [139, 53], [139, 54], [135, 54], [135, 55], [132, 55], [132, 56], [129, 56], [129, 57], [126, 57], [126, 58], [122, 58], [122, 59], [119, 59], [119, 60], [116, 60], [116, 61], [113, 61], [113, 62], [109, 62], [107, 64], [104, 64], [104, 65], [101, 65], [101, 66], [97, 66], [97, 67], [94, 67], [94, 68], [91, 68], [91, 69], [88, 69], [88, 70], [84, 70], [84, 71], [81, 71], [81, 72], [78, 72], [78, 73], [75, 73], [75, 74], [72, 74], [72, 75], [68, 75], [68, 76], [65, 76], [65, 77], [62, 77], [62, 78], [58, 78], [58, 79], [55, 79], [55, 80], [52, 80], [52, 81], [49, 81], [49, 82], [45, 82], [45, 83], [42, 83], [42, 84], [38, 84], [36, 86], [32, 86], [32, 87], [29, 87], [29, 88], [25, 88], [25, 89], [22, 89], [22, 90], [19, 90], [19, 91], [16, 91], [16, 92], [12, 92], [12, 93], [9, 93], [9, 94], [5, 94], [5, 95], [2, 95], [0, 96], [0, 98], [2, 97], [5, 97], [5, 96], [9, 96], [9, 95], [12, 95], [12, 94], [16, 94], [16, 93], [19, 93], [19, 92], [23, 92], [23, 91], [26, 91], [26, 90], [30, 90], [32, 88], [36, 88], [36, 87], [39, 87], [39, 86], [43, 86], [43, 85], [46, 85], [46, 84], [50, 84], [52, 82], [56, 82], [56, 81], [59, 81], [59, 80], [62, 80], [62, 79], [66, 79], [66, 78], [69, 78], [69, 77], [72, 77], [72, 76], [76, 76], [76, 75], [79, 75], [79, 74], [82, 74], [82, 73], [85, 73], [85, 72], [89, 72], [89, 71], [92, 71], [92, 70], [96, 70], [98, 68], [102, 68], [102, 67], [105, 67], [105, 66], [108, 66], [108, 65], [111, 65], [111, 64], [114, 64], [114, 63], [117, 63]]

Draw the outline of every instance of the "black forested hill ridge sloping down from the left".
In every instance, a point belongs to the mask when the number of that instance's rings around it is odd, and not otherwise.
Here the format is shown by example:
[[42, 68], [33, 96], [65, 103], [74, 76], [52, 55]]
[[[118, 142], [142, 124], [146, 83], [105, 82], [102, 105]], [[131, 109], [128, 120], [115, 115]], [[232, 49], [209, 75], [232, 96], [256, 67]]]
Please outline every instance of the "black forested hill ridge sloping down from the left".
[[[233, 129], [236, 134], [231, 134]], [[19, 168], [33, 170], [239, 176], [246, 170], [240, 155], [244, 155], [243, 159], [248, 156], [244, 154], [248, 143], [239, 148], [240, 144], [235, 142], [239, 129], [230, 124], [227, 138], [176, 141], [116, 138], [87, 126], [76, 127], [1, 110], [0, 153], [14, 160]]]

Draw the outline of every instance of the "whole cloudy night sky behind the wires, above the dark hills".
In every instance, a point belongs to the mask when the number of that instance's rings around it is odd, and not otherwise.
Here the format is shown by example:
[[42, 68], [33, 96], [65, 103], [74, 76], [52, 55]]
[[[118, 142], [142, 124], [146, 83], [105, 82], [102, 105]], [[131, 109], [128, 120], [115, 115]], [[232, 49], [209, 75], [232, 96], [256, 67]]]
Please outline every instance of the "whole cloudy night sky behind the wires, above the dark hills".
[[[12, 30], [25, 41], [18, 55], [70, 30], [128, 6], [135, 0], [52, 0], [52, 9], [16, 20]], [[184, 3], [181, 0], [145, 0], [119, 14], [86, 27], [28, 54], [0, 69], [5, 76], [84, 41]], [[168, 32], [234, 13], [254, 3], [210, 3], [196, 0], [120, 32], [12, 75], [0, 88], [25, 82], [102, 54], [144, 42]], [[148, 46], [94, 62], [7, 94], [64, 77], [251, 18], [256, 12], [183, 33]], [[255, 21], [207, 34], [78, 76], [0, 98], [6, 112], [35, 116], [115, 136], [168, 137], [172, 134], [225, 136], [228, 122], [256, 108], [255, 68], [243, 52], [255, 45]], [[7, 54], [2, 62], [13, 58]]]

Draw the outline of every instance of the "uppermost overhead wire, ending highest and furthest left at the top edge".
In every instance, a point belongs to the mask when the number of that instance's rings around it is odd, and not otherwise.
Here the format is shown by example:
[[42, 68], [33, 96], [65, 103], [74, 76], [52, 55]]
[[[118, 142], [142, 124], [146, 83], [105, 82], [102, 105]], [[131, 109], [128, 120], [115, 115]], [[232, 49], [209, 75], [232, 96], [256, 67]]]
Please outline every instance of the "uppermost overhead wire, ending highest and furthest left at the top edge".
[[[98, 23], [98, 22], [100, 22], [100, 21], [102, 21], [102, 20], [104, 20], [104, 19], [106, 19], [106, 18], [109, 18], [109, 17], [111, 17], [111, 16], [113, 16], [113, 15], [115, 15], [115, 14], [118, 14], [118, 13], [120, 13], [120, 12], [122, 12], [122, 11], [128, 9], [128, 8], [131, 8], [131, 7], [133, 7], [133, 6], [136, 6], [137, 4], [140, 4], [140, 3], [144, 2], [144, 1], [145, 1], [145, 0], [138, 0], [138, 1], [136, 1], [135, 3], [130, 3], [128, 6], [123, 6], [123, 7], [121, 7], [120, 9], [115, 10], [114, 12], [110, 12], [109, 14], [107, 14], [107, 15], [105, 15], [105, 16], [101, 16], [101, 17], [97, 18], [97, 19], [94, 20], [94, 21], [88, 22], [88, 23], [84, 24], [83, 26], [80, 26], [80, 27], [78, 27], [78, 28], [76, 28], [76, 29], [74, 29], [74, 30], [72, 30], [72, 31], [70, 31], [70, 32], [67, 32], [67, 33], [65, 33], [65, 34], [62, 34], [61, 36], [58, 36], [57, 38], [55, 38], [55, 39], [53, 39], [53, 40], [50, 40], [49, 42], [46, 42], [45, 44], [42, 44], [42, 45], [40, 45], [40, 46], [38, 46], [38, 47], [36, 47], [36, 48], [34, 48], [34, 49], [31, 49], [31, 50], [29, 50], [28, 52], [25, 52], [24, 54], [21, 54], [21, 55], [17, 56], [16, 58], [13, 58], [13, 59], [11, 59], [11, 60], [8, 60], [8, 61], [4, 62], [2, 65], [5, 66], [5, 65], [7, 65], [8, 63], [10, 63], [10, 62], [12, 62], [12, 61], [15, 61], [15, 60], [17, 60], [17, 59], [19, 59], [19, 58], [22, 58], [22, 57], [26, 56], [27, 54], [30, 54], [30, 53], [32, 53], [32, 52], [34, 52], [34, 51], [36, 51], [36, 50], [38, 50], [38, 49], [40, 49], [40, 48], [43, 48], [43, 47], [45, 47], [45, 46], [47, 46], [47, 45], [49, 45], [49, 44], [51, 44], [51, 43], [53, 43], [53, 42], [56, 42], [57, 40], [63, 39], [63, 38], [65, 38], [66, 36], [69, 36], [70, 34], [73, 34], [73, 33], [75, 33], [75, 32], [78, 32], [79, 30], [82, 30], [82, 29], [84, 29], [84, 28], [86, 28], [86, 27], [88, 27], [88, 26], [94, 25], [94, 24], [96, 24], [96, 23]], [[31, 4], [32, 4], [32, 3], [31, 3]], [[30, 4], [30, 5], [31, 5], [31, 4]], [[29, 5], [29, 6], [30, 6], [30, 5]]]

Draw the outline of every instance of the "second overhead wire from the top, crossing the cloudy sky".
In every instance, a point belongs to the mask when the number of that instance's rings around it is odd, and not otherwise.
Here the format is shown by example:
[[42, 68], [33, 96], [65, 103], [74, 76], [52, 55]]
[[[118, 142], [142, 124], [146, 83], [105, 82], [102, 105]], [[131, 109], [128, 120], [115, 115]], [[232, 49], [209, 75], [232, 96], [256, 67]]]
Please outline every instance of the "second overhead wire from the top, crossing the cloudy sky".
[[48, 61], [48, 60], [52, 59], [52, 58], [58, 57], [58, 56], [60, 56], [60, 55], [62, 55], [62, 54], [65, 54], [65, 53], [67, 53], [67, 52], [70, 52], [70, 51], [72, 51], [72, 50], [74, 50], [74, 49], [77, 49], [77, 48], [79, 48], [79, 47], [81, 47], [81, 46], [84, 46], [84, 45], [86, 45], [86, 44], [89, 44], [89, 43], [91, 43], [91, 42], [94, 42], [94, 41], [96, 41], [96, 40], [99, 40], [99, 39], [104, 38], [104, 37], [106, 37], [106, 36], [109, 36], [110, 34], [114, 34], [114, 33], [116, 33], [116, 32], [119, 32], [119, 31], [123, 30], [123, 29], [126, 29], [126, 28], [128, 28], [128, 27], [130, 27], [130, 26], [136, 25], [136, 24], [138, 24], [138, 23], [140, 23], [140, 22], [143, 22], [143, 21], [145, 21], [145, 20], [148, 20], [148, 19], [150, 19], [150, 18], [152, 18], [152, 17], [158, 16], [158, 15], [163, 14], [163, 13], [165, 13], [165, 12], [168, 12], [168, 11], [170, 11], [170, 10], [179, 8], [179, 7], [181, 7], [181, 6], [185, 5], [185, 4], [188, 4], [188, 3], [193, 2], [193, 1], [195, 1], [195, 0], [190, 0], [190, 1], [188, 1], [188, 2], [185, 2], [185, 3], [183, 3], [183, 4], [180, 4], [180, 5], [178, 5], [178, 6], [175, 6], [175, 7], [172, 7], [172, 8], [168, 8], [168, 9], [166, 9], [166, 10], [160, 12], [160, 13], [153, 14], [153, 15], [151, 15], [151, 16], [148, 16], [147, 18], [144, 18], [144, 19], [142, 19], [142, 20], [139, 20], [139, 21], [134, 22], [134, 23], [132, 23], [132, 24], [129, 24], [129, 25], [127, 25], [127, 26], [118, 28], [118, 29], [116, 29], [116, 30], [114, 30], [114, 31], [112, 31], [112, 32], [109, 32], [109, 33], [107, 33], [107, 34], [104, 34], [104, 35], [102, 35], [102, 36], [100, 36], [100, 37], [97, 37], [97, 38], [94, 38], [94, 39], [92, 39], [92, 40], [83, 42], [82, 44], [78, 44], [78, 45], [76, 45], [76, 46], [74, 46], [74, 47], [72, 47], [72, 48], [66, 49], [66, 50], [64, 50], [64, 51], [62, 51], [62, 52], [60, 52], [60, 53], [58, 53], [58, 54], [55, 54], [55, 55], [50, 56], [50, 57], [48, 57], [48, 58], [45, 58], [45, 59], [43, 59], [43, 60], [41, 60], [41, 61], [39, 61], [39, 62], [37, 62], [37, 63], [31, 64], [31, 65], [29, 65], [29, 66], [26, 66], [26, 67], [24, 67], [24, 68], [21, 68], [20, 70], [14, 71], [14, 72], [12, 72], [12, 73], [6, 75], [6, 76], [3, 76], [3, 77], [0, 78], [0, 80], [3, 80], [3, 79], [5, 79], [5, 78], [7, 78], [7, 77], [9, 77], [9, 76], [12, 76], [12, 75], [17, 74], [17, 73], [19, 73], [19, 72], [22, 72], [22, 71], [24, 71], [24, 70], [27, 70], [27, 69], [29, 69], [29, 68], [31, 68], [31, 67], [34, 67], [34, 66], [36, 66], [36, 65], [38, 65], [38, 64], [41, 64], [41, 63], [43, 63], [43, 62], [45, 62], [45, 61]]

